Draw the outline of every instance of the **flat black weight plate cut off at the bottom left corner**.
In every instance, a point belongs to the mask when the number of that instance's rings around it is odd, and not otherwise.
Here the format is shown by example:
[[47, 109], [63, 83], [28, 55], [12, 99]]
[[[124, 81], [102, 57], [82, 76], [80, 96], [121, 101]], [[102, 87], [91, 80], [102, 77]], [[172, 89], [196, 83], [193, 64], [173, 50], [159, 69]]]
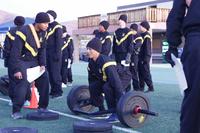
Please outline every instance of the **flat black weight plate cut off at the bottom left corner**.
[[7, 127], [1, 128], [0, 133], [38, 133], [38, 130], [28, 127]]

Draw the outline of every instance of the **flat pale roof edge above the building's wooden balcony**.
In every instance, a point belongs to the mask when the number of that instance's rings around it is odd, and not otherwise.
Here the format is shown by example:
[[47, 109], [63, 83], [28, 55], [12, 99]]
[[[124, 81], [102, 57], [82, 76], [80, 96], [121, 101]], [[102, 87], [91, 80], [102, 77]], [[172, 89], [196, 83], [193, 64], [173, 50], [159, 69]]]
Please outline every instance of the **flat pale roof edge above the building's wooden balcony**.
[[138, 4], [130, 4], [130, 5], [124, 5], [124, 6], [119, 6], [117, 7], [117, 10], [125, 10], [125, 9], [130, 9], [130, 8], [137, 8], [137, 7], [144, 7], [144, 6], [154, 6], [157, 4], [165, 3], [165, 2], [171, 2], [173, 0], [154, 0], [154, 1], [149, 1], [149, 2], [144, 2], [144, 3], [138, 3]]

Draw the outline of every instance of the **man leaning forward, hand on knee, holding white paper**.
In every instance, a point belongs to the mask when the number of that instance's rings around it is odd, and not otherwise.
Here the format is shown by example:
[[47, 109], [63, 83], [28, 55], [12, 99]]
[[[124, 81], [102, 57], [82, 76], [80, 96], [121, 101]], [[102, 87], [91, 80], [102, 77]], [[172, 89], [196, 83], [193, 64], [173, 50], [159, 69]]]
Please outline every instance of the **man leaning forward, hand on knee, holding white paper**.
[[[11, 66], [12, 80], [15, 82], [12, 97], [13, 119], [23, 118], [20, 110], [24, 104], [27, 90], [30, 89], [30, 83], [27, 80], [27, 68], [40, 66], [40, 70], [45, 70], [45, 34], [50, 22], [47, 13], [40, 12], [36, 15], [35, 23], [21, 27], [16, 32], [13, 42], [9, 65]], [[46, 110], [49, 102], [49, 80], [45, 71], [35, 80], [35, 86], [38, 88], [39, 110]]]

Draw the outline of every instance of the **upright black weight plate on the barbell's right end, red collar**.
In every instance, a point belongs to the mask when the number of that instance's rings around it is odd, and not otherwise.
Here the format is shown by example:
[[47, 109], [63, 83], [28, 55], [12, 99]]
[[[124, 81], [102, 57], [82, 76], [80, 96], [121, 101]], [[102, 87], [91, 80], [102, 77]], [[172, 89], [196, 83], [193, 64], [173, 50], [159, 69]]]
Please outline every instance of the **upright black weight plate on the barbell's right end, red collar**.
[[134, 113], [136, 107], [149, 110], [149, 100], [142, 92], [131, 91], [123, 95], [117, 104], [119, 121], [125, 126], [136, 128], [144, 124], [146, 114]]

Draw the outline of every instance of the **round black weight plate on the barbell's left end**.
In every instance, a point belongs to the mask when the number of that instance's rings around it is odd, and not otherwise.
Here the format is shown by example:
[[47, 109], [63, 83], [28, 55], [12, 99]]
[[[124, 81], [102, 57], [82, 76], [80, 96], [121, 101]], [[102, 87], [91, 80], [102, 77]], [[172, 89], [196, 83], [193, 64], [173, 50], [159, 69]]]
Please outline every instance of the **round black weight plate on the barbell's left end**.
[[75, 86], [71, 89], [71, 91], [67, 96], [67, 105], [69, 109], [74, 113], [76, 113], [74, 109], [83, 112], [92, 112], [95, 108], [94, 106], [92, 105], [87, 105], [84, 107], [80, 106], [80, 101], [86, 99], [90, 99], [89, 87], [87, 85]]

